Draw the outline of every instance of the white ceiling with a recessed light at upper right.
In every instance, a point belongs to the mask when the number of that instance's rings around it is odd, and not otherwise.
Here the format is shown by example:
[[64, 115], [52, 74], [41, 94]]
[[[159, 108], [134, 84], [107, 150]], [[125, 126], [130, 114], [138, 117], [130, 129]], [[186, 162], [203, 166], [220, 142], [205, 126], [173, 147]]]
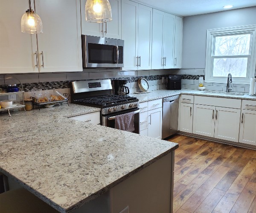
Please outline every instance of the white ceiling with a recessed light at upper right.
[[233, 5], [231, 9], [256, 6], [256, 0], [138, 0], [146, 5], [162, 9], [181, 16], [220, 12], [225, 5]]

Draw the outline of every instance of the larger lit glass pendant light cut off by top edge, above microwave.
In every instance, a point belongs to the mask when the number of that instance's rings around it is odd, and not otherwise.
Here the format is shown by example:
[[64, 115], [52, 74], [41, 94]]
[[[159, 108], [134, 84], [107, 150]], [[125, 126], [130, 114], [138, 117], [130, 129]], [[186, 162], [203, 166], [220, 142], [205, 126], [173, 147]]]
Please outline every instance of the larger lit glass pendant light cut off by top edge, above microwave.
[[108, 0], [87, 0], [85, 4], [85, 20], [103, 23], [112, 21], [111, 6]]

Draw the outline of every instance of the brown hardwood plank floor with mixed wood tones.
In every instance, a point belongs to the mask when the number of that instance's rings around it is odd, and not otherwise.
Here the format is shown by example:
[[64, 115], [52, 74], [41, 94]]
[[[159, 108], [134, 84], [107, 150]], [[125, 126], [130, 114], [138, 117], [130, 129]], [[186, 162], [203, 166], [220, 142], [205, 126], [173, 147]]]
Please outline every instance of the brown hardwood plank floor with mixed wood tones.
[[175, 135], [174, 213], [256, 213], [256, 151]]

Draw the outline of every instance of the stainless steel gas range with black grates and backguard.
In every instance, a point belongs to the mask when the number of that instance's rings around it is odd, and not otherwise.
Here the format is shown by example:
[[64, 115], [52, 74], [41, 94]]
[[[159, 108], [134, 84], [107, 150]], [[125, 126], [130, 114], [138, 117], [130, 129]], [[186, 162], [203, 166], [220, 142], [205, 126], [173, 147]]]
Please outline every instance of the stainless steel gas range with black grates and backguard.
[[101, 108], [101, 125], [115, 128], [115, 116], [134, 112], [134, 133], [139, 134], [139, 100], [129, 95], [111, 95], [111, 80], [71, 82], [71, 103]]

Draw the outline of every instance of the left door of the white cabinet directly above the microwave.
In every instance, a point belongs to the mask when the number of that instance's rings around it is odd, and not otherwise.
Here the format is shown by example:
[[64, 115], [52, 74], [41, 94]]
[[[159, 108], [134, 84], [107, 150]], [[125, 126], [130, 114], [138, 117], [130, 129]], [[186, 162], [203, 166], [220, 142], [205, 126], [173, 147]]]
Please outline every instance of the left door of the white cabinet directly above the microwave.
[[85, 3], [86, 0], [81, 0], [81, 28], [82, 35], [92, 35], [92, 36], [103, 36], [102, 24], [87, 22], [85, 20]]

